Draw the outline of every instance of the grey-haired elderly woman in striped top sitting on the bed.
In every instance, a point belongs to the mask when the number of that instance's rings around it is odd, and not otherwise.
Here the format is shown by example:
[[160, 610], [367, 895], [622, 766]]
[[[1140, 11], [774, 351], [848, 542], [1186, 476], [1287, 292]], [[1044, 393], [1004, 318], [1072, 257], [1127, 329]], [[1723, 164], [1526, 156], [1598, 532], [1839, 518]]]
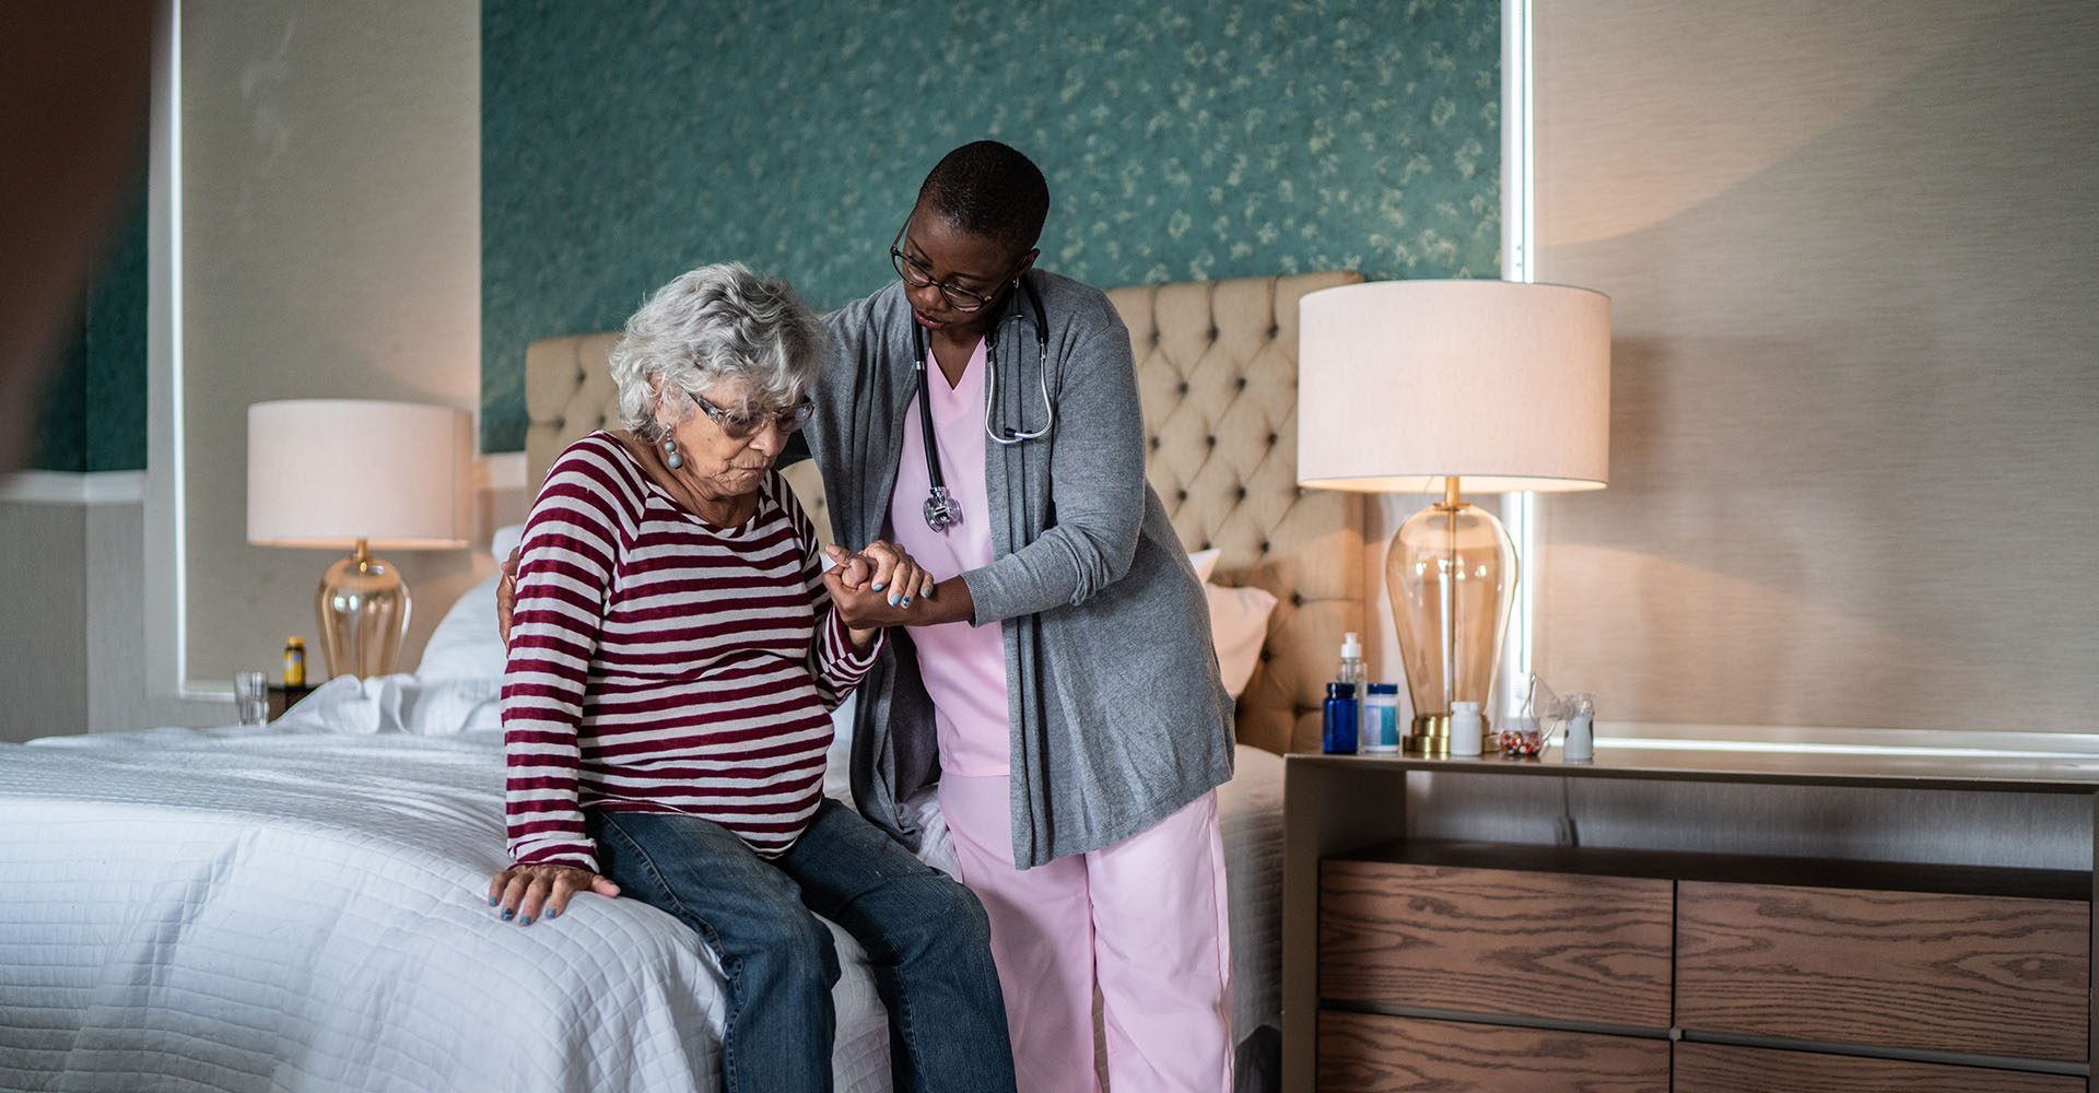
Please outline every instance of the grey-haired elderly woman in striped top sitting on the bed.
[[[873, 560], [817, 556], [772, 470], [808, 417], [823, 327], [737, 264], [678, 277], [611, 355], [623, 432], [548, 472], [525, 529], [504, 678], [504, 919], [638, 898], [716, 950], [730, 1091], [831, 1089], [838, 955], [867, 948], [896, 1089], [1014, 1089], [982, 906], [823, 795], [831, 709], [882, 631]], [[888, 575], [917, 569], [873, 543]]]

